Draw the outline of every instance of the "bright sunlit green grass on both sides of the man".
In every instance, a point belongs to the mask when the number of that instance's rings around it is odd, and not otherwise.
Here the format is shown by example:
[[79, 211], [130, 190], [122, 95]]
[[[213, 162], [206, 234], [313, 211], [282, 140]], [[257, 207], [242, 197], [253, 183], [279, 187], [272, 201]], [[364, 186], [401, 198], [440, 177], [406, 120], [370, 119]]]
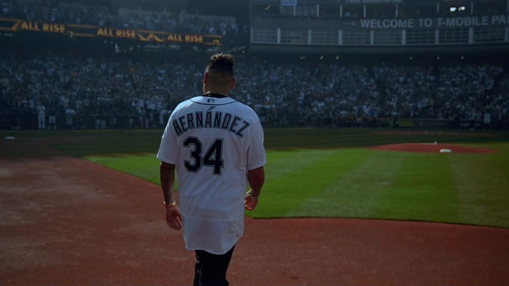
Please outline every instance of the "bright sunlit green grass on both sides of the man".
[[[486, 146], [485, 146], [486, 147]], [[253, 218], [351, 217], [509, 227], [509, 144], [493, 154], [268, 151]], [[153, 183], [154, 155], [87, 157]]]

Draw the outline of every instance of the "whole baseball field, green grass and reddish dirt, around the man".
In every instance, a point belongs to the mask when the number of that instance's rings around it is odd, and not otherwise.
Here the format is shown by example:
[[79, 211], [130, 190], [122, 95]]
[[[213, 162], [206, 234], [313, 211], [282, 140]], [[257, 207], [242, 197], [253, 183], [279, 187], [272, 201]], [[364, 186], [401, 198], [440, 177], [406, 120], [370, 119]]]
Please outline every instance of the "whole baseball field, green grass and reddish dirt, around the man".
[[[1, 285], [192, 280], [162, 130], [0, 134]], [[265, 147], [232, 284], [509, 284], [508, 132], [266, 129]]]

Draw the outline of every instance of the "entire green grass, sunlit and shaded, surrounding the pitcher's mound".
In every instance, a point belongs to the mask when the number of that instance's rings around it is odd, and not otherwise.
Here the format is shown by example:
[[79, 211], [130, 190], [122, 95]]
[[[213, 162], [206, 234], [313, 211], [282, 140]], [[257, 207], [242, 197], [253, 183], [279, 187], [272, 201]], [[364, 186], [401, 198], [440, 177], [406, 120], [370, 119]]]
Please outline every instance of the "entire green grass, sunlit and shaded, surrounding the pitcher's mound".
[[[509, 133], [380, 135], [377, 129], [267, 129], [266, 183], [246, 215], [352, 217], [509, 227]], [[454, 131], [453, 131], [454, 132]], [[478, 132], [477, 132], [478, 133]], [[161, 130], [35, 133], [74, 156], [159, 183]], [[36, 136], [17, 133], [14, 136]], [[60, 140], [59, 138], [65, 138]], [[417, 154], [362, 147], [454, 142], [490, 154]]]

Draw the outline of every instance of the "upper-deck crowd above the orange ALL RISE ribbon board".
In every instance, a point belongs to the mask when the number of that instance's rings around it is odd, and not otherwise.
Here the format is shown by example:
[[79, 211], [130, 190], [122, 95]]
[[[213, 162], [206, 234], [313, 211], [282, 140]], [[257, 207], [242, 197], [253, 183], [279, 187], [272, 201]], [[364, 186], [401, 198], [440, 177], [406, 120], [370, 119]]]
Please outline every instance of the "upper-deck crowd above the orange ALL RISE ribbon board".
[[239, 26], [233, 17], [194, 15], [183, 13], [184, 11], [179, 15], [167, 11], [143, 12], [139, 9], [126, 9], [125, 13], [114, 13], [106, 6], [46, 0], [2, 0], [0, 6], [2, 17], [29, 21], [221, 36], [247, 34], [247, 25]]

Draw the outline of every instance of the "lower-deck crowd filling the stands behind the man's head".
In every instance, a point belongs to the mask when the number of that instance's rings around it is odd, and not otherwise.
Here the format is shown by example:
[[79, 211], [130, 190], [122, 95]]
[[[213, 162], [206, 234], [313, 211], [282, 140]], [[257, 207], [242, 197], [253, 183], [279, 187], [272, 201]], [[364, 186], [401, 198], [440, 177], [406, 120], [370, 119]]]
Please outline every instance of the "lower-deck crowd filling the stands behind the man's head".
[[[392, 117], [482, 120], [487, 114], [498, 120], [509, 113], [509, 76], [496, 64], [239, 61], [235, 69], [232, 97], [251, 106], [269, 126], [338, 126]], [[178, 102], [202, 94], [203, 70], [181, 60], [3, 58], [0, 111], [65, 114], [68, 126], [77, 124], [75, 115], [96, 117], [97, 128], [114, 126], [106, 120], [115, 117], [136, 118], [130, 127], [163, 125]]]

